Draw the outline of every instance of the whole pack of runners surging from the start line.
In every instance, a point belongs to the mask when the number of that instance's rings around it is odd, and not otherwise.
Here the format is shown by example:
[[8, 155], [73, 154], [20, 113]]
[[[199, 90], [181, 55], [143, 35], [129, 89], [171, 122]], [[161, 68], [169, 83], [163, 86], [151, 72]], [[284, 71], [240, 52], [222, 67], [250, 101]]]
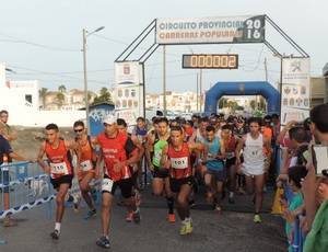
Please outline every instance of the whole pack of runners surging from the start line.
[[[142, 162], [152, 174], [153, 195], [167, 203], [167, 221], [175, 222], [175, 209], [181, 221], [181, 236], [192, 232], [190, 205], [195, 202], [195, 186], [204, 184], [206, 197], [218, 213], [229, 190], [229, 203], [234, 204], [236, 191], [243, 185], [254, 193], [254, 221], [261, 222], [263, 197], [271, 139], [263, 134], [260, 118], [224, 115], [194, 116], [191, 121], [154, 117], [151, 124], [142, 117], [128, 133], [121, 118], [108, 115], [103, 121], [104, 131], [96, 137], [87, 135], [83, 122], [73, 124], [74, 139], [65, 140], [56, 124], [45, 127], [37, 162], [46, 173], [56, 194], [56, 222], [51, 238], [60, 238], [65, 203], [72, 180], [77, 176], [81, 195], [89, 211], [85, 219], [96, 215], [91, 196], [92, 180], [102, 181], [102, 234], [96, 244], [109, 248], [109, 222], [117, 187], [127, 207], [127, 221], [139, 224]], [[271, 125], [270, 125], [271, 127]], [[272, 128], [272, 127], [271, 127]], [[72, 164], [75, 156], [75, 164]], [[46, 158], [46, 159], [45, 159]]]

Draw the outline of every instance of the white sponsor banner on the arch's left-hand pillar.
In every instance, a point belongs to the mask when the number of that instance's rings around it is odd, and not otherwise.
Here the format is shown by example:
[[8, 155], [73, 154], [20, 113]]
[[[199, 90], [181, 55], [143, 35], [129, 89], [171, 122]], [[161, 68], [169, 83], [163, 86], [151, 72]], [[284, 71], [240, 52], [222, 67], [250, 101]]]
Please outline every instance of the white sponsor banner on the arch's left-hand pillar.
[[142, 68], [138, 61], [115, 64], [115, 113], [129, 125], [143, 116]]

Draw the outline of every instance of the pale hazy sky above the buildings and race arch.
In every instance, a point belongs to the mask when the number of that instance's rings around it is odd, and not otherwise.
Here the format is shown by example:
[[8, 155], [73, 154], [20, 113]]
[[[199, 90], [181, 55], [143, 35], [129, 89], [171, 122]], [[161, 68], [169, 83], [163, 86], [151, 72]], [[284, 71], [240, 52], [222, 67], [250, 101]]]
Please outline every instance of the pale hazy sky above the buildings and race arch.
[[[56, 90], [83, 88], [82, 28], [105, 26], [98, 36], [87, 38], [90, 89], [109, 88], [114, 60], [155, 18], [202, 18], [268, 14], [312, 57], [312, 76], [320, 76], [328, 61], [328, 3], [316, 1], [260, 0], [11, 0], [1, 3], [0, 61], [16, 73], [10, 79], [39, 80], [40, 87]], [[281, 53], [293, 51], [280, 36], [270, 42]], [[237, 53], [238, 70], [204, 70], [203, 87], [216, 81], [279, 80], [279, 60], [262, 45], [208, 45], [167, 47], [167, 89], [196, 91], [197, 70], [181, 69], [181, 54]], [[148, 92], [162, 90], [161, 48], [147, 62]]]

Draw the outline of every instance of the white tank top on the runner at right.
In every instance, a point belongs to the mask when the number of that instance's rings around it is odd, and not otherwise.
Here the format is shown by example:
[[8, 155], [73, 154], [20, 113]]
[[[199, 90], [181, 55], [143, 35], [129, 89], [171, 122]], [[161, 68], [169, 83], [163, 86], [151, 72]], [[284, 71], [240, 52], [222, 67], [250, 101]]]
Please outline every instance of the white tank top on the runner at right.
[[244, 164], [247, 167], [259, 167], [265, 163], [263, 136], [260, 134], [257, 139], [253, 139], [250, 134], [246, 135], [244, 147]]

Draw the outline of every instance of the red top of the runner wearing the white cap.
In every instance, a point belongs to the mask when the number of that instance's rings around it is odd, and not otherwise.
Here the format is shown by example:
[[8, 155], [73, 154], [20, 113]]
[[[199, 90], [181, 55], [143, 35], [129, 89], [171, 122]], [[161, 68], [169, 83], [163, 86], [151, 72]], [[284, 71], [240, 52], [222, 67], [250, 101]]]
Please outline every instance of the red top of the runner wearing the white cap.
[[97, 140], [104, 156], [104, 172], [113, 181], [119, 181], [129, 179], [131, 172], [128, 165], [125, 165], [119, 172], [114, 171], [115, 162], [126, 161], [128, 159], [127, 151], [125, 149], [128, 136], [118, 133], [115, 138], [108, 138], [105, 133], [97, 136]]

